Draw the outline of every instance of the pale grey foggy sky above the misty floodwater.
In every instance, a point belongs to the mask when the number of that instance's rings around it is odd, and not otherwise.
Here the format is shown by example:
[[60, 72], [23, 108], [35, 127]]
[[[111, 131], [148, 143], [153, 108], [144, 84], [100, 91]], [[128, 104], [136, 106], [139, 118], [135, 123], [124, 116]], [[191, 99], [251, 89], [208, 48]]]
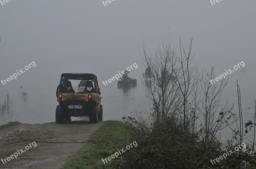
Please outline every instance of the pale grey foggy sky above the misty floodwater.
[[193, 38], [200, 69], [214, 66], [220, 74], [241, 61], [255, 67], [255, 6], [253, 0], [116, 0], [106, 7], [100, 0], [12, 0], [0, 4], [0, 80], [32, 61], [36, 67], [10, 84], [56, 84], [69, 72], [102, 81], [135, 62], [139, 68], [129, 76], [141, 78], [142, 38], [154, 53], [163, 36], [173, 45], [181, 36], [185, 49]]

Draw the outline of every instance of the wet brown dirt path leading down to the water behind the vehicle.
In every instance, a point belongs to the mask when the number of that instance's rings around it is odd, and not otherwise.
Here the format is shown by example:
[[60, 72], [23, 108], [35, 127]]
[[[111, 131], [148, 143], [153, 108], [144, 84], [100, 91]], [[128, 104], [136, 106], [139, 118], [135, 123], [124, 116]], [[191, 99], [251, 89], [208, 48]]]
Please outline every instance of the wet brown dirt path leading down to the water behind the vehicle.
[[[0, 168], [61, 168], [103, 123], [19, 124], [0, 130]], [[37, 146], [26, 150], [34, 141]], [[26, 152], [17, 159], [1, 162], [21, 149]]]

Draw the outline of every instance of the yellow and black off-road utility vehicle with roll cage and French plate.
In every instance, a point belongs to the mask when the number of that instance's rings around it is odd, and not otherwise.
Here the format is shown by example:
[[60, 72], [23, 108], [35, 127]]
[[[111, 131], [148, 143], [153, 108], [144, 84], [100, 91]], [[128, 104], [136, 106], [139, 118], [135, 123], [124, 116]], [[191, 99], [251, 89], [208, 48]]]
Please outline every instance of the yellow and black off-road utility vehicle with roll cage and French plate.
[[[66, 79], [65, 82], [63, 79]], [[76, 93], [72, 83], [79, 83]], [[85, 85], [81, 85], [84, 84]], [[74, 87], [76, 88], [76, 87]], [[70, 121], [71, 116], [89, 116], [90, 123], [102, 121], [103, 109], [100, 97], [100, 88], [95, 74], [64, 73], [61, 74], [59, 105], [56, 107], [56, 123]]]

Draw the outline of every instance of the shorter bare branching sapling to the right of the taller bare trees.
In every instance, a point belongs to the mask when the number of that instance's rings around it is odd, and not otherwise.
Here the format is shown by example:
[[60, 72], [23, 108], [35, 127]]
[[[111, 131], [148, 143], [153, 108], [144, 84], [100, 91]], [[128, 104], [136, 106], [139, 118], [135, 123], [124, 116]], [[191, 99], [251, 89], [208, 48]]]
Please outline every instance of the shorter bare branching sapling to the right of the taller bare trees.
[[[228, 101], [226, 101], [224, 106], [220, 108], [221, 91], [228, 84], [228, 79], [222, 78], [220, 81], [212, 83], [210, 80], [213, 78], [213, 67], [210, 74], [206, 72], [206, 76], [204, 77], [202, 74], [200, 78], [203, 98], [201, 100], [202, 107], [199, 110], [202, 115], [201, 137], [204, 142], [205, 151], [208, 151], [213, 141], [219, 142], [217, 134], [220, 130], [236, 121], [236, 116], [232, 113], [233, 104], [231, 107], [228, 107]], [[216, 115], [217, 112], [220, 112], [219, 115]], [[230, 121], [231, 118], [232, 120]]]

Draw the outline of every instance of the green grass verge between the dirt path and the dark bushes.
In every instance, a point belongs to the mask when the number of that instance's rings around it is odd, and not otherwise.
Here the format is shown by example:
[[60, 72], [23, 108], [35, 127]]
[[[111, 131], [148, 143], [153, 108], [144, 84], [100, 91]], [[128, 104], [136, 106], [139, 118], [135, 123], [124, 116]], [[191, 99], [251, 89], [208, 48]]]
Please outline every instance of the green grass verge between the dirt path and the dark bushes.
[[[63, 169], [78, 168], [105, 168], [109, 169], [111, 163], [116, 158], [108, 161], [107, 164], [102, 162], [102, 158], [107, 158], [114, 154], [117, 149], [125, 148], [135, 140], [132, 140], [134, 128], [126, 123], [118, 121], [106, 121], [99, 130], [92, 135], [88, 144], [85, 144], [71, 160], [64, 165]], [[122, 160], [122, 154], [118, 160]], [[110, 164], [109, 164], [110, 163]]]

